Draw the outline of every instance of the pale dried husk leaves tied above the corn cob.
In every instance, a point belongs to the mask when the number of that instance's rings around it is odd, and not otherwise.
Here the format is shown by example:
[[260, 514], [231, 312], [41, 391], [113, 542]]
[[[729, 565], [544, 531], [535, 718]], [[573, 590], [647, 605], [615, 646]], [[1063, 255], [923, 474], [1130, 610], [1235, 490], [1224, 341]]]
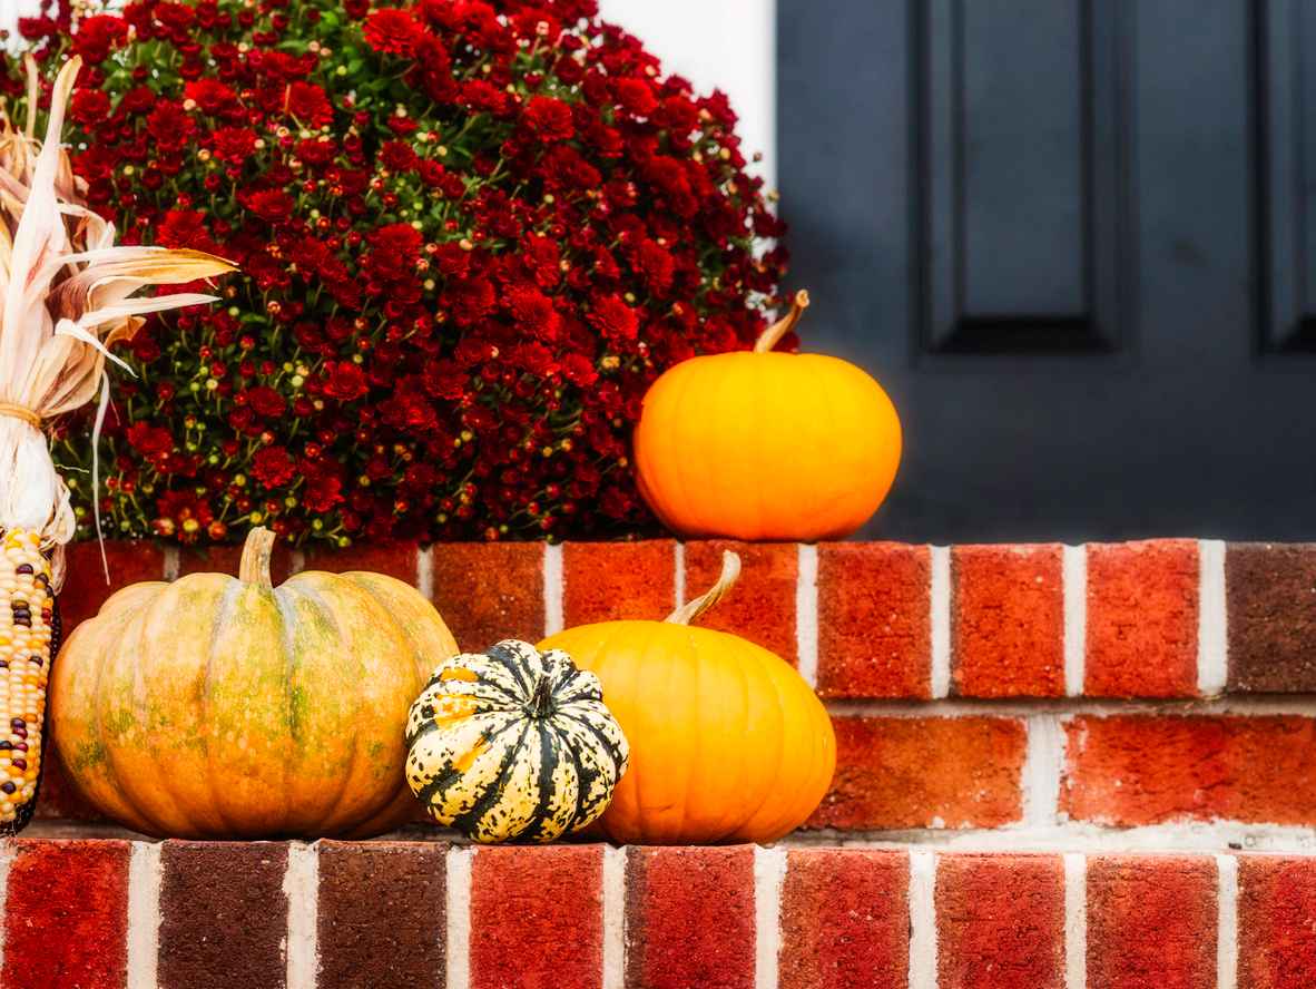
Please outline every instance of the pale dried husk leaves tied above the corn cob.
[[46, 550], [67, 543], [76, 521], [41, 424], [99, 400], [99, 437], [105, 361], [122, 363], [109, 345], [132, 337], [145, 313], [216, 300], [133, 294], [233, 270], [201, 252], [114, 246], [113, 225], [83, 203], [59, 141], [79, 67], [70, 59], [55, 80], [43, 142], [30, 59], [24, 129], [0, 109], [0, 529], [37, 532]]

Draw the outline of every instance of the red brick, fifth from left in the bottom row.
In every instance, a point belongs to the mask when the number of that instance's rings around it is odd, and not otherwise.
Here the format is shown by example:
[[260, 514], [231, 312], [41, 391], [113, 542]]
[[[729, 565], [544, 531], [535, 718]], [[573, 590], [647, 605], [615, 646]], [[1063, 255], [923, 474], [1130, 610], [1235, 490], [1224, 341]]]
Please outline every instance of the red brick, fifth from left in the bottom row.
[[754, 849], [632, 848], [628, 989], [754, 989]]

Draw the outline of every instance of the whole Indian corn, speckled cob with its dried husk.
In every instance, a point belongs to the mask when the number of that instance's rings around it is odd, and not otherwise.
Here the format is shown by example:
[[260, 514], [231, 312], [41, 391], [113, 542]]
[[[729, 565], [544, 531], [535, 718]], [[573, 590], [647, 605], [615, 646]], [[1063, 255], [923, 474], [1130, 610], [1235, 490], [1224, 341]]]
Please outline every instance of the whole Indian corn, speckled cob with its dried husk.
[[[120, 362], [109, 345], [130, 338], [143, 313], [215, 300], [133, 294], [233, 270], [200, 252], [114, 246], [113, 225], [83, 203], [59, 142], [79, 68], [70, 59], [54, 82], [45, 141], [36, 138], [32, 59], [25, 128], [0, 108], [0, 835], [21, 830], [36, 806], [59, 645], [55, 594], [76, 531], [45, 425], [99, 395], [95, 444], [109, 400], [105, 361]], [[92, 474], [96, 487], [95, 460]]]

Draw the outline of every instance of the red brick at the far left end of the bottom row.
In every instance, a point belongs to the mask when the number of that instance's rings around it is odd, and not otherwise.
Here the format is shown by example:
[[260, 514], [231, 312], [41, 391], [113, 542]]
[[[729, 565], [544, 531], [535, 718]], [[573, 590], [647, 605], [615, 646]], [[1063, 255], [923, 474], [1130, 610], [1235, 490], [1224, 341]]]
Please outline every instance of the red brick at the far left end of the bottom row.
[[129, 843], [18, 839], [13, 852], [7, 989], [125, 985]]

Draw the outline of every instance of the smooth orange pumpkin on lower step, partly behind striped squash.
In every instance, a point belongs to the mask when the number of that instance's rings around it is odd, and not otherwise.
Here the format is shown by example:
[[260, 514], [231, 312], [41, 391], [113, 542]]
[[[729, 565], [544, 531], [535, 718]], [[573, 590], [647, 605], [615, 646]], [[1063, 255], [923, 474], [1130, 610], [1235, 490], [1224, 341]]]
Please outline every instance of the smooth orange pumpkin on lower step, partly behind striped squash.
[[740, 573], [666, 622], [601, 622], [551, 635], [603, 683], [630, 766], [596, 824], [622, 844], [774, 842], [804, 823], [836, 769], [821, 702], [780, 657], [690, 623]]

